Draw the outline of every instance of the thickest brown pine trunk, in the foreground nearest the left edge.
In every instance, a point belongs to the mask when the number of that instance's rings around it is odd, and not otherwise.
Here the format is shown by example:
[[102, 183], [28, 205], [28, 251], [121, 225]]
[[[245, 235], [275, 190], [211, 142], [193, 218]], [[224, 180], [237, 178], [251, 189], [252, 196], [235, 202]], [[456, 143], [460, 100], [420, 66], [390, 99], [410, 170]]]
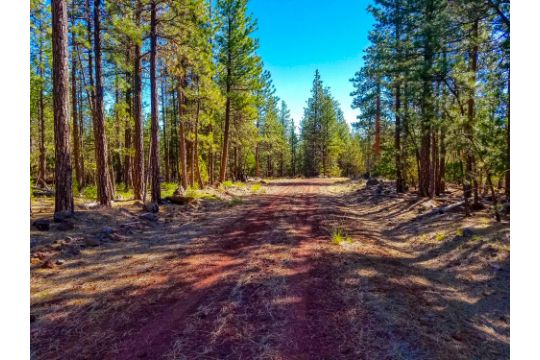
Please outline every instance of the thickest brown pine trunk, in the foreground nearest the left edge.
[[66, 0], [52, 0], [55, 214], [73, 213], [69, 146], [68, 19]]

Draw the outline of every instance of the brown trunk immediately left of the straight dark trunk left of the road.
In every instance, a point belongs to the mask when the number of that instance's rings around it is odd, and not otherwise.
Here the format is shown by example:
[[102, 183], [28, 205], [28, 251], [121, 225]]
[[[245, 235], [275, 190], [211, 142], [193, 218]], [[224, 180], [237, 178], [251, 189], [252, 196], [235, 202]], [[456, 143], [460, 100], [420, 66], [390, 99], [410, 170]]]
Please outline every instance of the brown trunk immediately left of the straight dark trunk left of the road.
[[[141, 0], [137, 0], [135, 21], [141, 26]], [[134, 145], [135, 159], [133, 163], [133, 194], [136, 200], [143, 198], [144, 186], [144, 130], [142, 114], [142, 80], [141, 80], [141, 47], [135, 43], [133, 59], [133, 117], [135, 119]]]

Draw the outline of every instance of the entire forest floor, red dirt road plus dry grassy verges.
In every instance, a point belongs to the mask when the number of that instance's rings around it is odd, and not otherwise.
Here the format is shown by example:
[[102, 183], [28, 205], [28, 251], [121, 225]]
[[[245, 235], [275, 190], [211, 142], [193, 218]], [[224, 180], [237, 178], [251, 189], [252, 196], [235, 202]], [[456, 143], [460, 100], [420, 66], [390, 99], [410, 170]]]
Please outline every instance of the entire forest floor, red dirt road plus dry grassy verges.
[[32, 356], [509, 358], [509, 219], [434, 211], [460, 198], [283, 179], [157, 214], [79, 199], [73, 228], [31, 229]]

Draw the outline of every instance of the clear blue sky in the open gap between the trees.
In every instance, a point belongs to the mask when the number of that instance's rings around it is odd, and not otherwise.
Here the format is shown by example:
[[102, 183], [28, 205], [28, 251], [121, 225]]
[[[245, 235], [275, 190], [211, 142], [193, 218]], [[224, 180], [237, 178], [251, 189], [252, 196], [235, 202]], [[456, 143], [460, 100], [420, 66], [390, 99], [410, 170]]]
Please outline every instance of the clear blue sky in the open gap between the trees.
[[315, 69], [330, 86], [350, 124], [349, 81], [362, 66], [373, 18], [370, 0], [250, 0], [257, 19], [258, 54], [272, 73], [277, 95], [285, 100], [298, 125], [310, 96]]

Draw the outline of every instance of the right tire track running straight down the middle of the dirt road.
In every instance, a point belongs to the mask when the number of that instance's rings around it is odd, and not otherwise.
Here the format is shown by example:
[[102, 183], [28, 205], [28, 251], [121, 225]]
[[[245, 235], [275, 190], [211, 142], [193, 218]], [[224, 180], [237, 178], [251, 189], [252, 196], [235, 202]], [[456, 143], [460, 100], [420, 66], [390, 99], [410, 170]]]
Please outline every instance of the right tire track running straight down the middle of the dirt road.
[[324, 216], [321, 187], [311, 183], [294, 197], [303, 211], [289, 219], [297, 247], [293, 250], [293, 271], [297, 276], [289, 284], [291, 303], [289, 324], [284, 332], [282, 351], [286, 359], [335, 359], [340, 348], [337, 293], [325, 253], [328, 234], [321, 227]]

